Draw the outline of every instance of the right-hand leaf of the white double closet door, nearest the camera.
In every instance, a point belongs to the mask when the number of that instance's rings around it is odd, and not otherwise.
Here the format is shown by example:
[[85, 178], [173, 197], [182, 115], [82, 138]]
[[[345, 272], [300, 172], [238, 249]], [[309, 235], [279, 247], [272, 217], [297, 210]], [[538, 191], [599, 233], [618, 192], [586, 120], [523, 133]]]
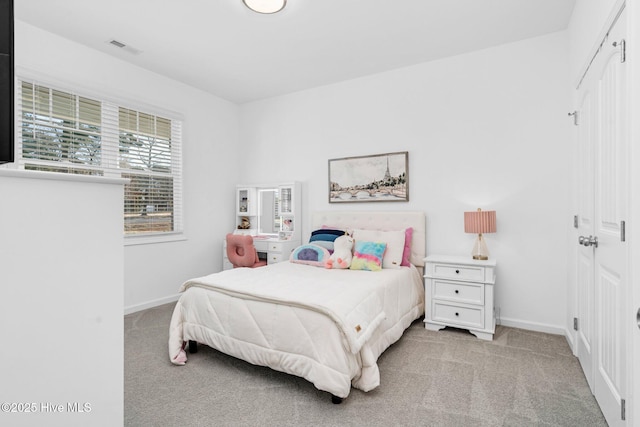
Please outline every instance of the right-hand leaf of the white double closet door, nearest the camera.
[[620, 41], [624, 16], [609, 36], [609, 49], [601, 53], [599, 71], [600, 132], [597, 139], [597, 185], [595, 198], [596, 321], [598, 357], [595, 396], [610, 426], [624, 425], [621, 399], [626, 392], [626, 348], [623, 322], [627, 294], [627, 250], [620, 239], [620, 221], [627, 212], [626, 165], [626, 66], [621, 51], [612, 41]]

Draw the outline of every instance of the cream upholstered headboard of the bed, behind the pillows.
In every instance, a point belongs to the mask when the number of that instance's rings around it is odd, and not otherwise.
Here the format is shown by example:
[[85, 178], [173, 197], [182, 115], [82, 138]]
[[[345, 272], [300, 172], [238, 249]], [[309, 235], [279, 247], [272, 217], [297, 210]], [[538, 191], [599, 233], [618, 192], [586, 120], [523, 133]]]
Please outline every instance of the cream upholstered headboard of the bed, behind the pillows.
[[329, 225], [339, 228], [365, 228], [371, 230], [401, 230], [413, 227], [411, 263], [424, 266], [426, 256], [427, 221], [424, 212], [417, 211], [326, 211], [311, 215], [311, 230]]

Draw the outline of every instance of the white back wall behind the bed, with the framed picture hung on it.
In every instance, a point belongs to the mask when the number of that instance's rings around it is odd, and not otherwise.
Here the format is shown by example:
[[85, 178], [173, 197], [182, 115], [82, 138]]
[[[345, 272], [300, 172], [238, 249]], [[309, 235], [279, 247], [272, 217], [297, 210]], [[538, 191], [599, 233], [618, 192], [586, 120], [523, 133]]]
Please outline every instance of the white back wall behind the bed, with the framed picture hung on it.
[[[303, 211], [423, 210], [427, 253], [470, 253], [495, 209], [503, 324], [563, 333], [570, 157], [566, 32], [241, 107], [244, 180], [303, 182]], [[409, 151], [410, 201], [329, 205], [331, 158]], [[303, 223], [303, 236], [310, 232]]]

